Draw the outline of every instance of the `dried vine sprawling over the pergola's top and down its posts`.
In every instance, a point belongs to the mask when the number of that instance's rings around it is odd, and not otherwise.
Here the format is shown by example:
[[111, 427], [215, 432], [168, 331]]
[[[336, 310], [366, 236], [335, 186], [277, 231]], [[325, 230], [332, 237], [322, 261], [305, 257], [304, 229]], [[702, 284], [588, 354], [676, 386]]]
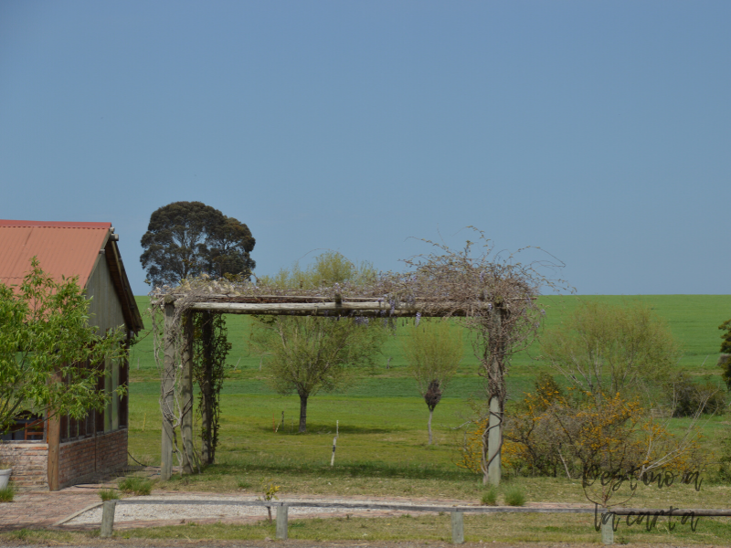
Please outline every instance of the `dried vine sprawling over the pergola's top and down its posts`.
[[[491, 403], [491, 420], [483, 436], [482, 471], [487, 480], [489, 470], [493, 470], [491, 481], [499, 482], [506, 365], [510, 357], [530, 345], [539, 332], [545, 313], [536, 301], [540, 291], [545, 288], [568, 290], [569, 287], [564, 280], [543, 274], [546, 269], [562, 268], [558, 261], [524, 264], [516, 261], [514, 255], [493, 254], [490, 240], [482, 232], [476, 233], [479, 245], [468, 241], [463, 249], [454, 251], [428, 241], [435, 251], [405, 260], [408, 272], [379, 273], [359, 284], [335, 283], [302, 290], [248, 280], [202, 277], [186, 279], [175, 288], [155, 289], [151, 294], [152, 309], [154, 312], [167, 310], [165, 313], [169, 317], [165, 321], [163, 345], [171, 347], [169, 362], [179, 364], [161, 367], [164, 421], [168, 421], [175, 431], [181, 424], [177, 417], [187, 408], [175, 394], [175, 386], [179, 385], [175, 381], [177, 377], [170, 378], [170, 375], [175, 376], [175, 372], [184, 369], [180, 360], [189, 351], [186, 351], [188, 342], [185, 342], [181, 326], [191, 312], [369, 315], [384, 319], [395, 316], [461, 317], [463, 325], [472, 333], [475, 355], [480, 360], [479, 374], [487, 380], [486, 396]], [[473, 253], [475, 249], [479, 252]], [[155, 326], [158, 328], [155, 333], [158, 333], [159, 321]], [[161, 341], [156, 337], [158, 364], [161, 364], [160, 353]], [[185, 455], [185, 448], [192, 448], [192, 442], [186, 444], [185, 434], [183, 437], [184, 451], [178, 458], [181, 462], [194, 462], [192, 456]]]

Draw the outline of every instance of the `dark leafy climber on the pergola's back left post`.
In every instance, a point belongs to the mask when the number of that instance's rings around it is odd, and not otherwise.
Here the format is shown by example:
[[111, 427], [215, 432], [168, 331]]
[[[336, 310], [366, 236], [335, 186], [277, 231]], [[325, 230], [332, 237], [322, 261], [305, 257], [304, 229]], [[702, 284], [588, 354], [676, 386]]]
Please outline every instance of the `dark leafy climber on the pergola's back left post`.
[[226, 374], [226, 358], [231, 350], [226, 318], [210, 312], [193, 315], [193, 375], [200, 388], [198, 414], [201, 417], [203, 460], [213, 464], [218, 446], [221, 389]]

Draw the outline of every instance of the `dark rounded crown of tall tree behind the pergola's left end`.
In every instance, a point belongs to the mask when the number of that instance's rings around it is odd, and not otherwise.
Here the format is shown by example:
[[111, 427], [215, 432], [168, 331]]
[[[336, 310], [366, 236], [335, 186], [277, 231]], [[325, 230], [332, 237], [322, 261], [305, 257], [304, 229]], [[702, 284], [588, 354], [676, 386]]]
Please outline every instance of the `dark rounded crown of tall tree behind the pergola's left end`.
[[201, 202], [174, 202], [156, 209], [142, 238], [140, 262], [153, 286], [175, 286], [201, 274], [249, 279], [256, 240], [249, 227]]

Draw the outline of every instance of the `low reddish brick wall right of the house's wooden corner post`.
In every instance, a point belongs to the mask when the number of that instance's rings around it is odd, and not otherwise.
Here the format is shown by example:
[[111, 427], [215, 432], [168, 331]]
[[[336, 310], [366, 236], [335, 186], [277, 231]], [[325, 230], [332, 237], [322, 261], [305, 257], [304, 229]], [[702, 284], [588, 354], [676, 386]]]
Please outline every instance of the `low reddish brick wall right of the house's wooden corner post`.
[[64, 442], [58, 447], [58, 488], [96, 479], [126, 465], [126, 428]]

